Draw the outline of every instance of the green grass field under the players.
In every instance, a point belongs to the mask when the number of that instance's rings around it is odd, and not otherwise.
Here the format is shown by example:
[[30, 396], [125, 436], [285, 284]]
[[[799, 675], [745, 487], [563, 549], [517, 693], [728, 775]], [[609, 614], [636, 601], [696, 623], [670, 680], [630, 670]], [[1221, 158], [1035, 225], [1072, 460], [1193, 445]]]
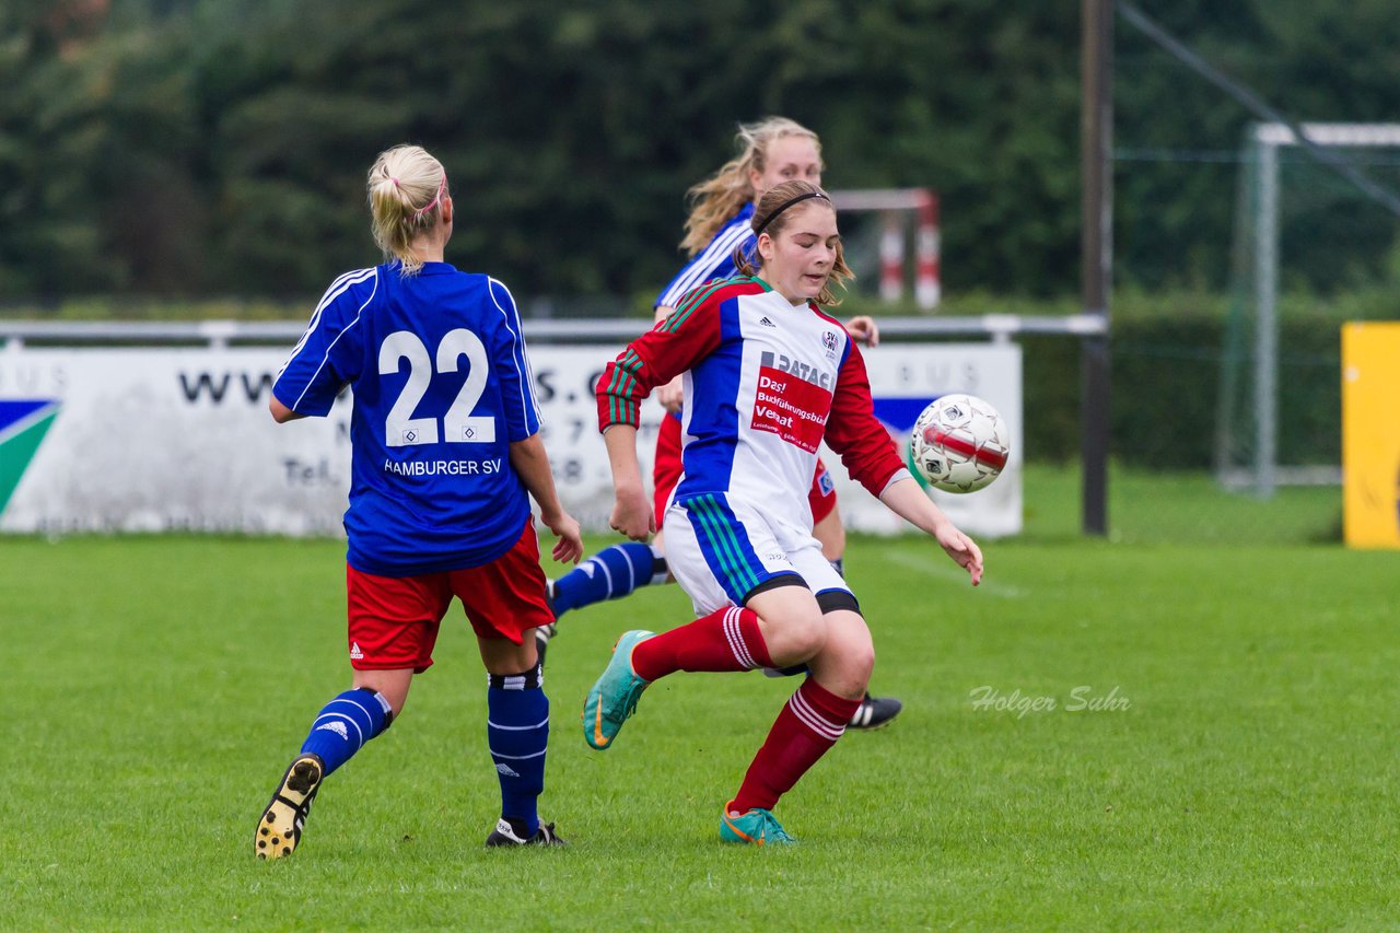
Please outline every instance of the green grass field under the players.
[[1400, 553], [1334, 544], [1336, 489], [1116, 475], [1110, 542], [1075, 535], [1075, 489], [1028, 476], [1028, 532], [987, 542], [979, 590], [917, 538], [853, 539], [875, 688], [906, 712], [784, 799], [791, 850], [717, 825], [794, 682], [676, 675], [613, 749], [584, 745], [616, 635], [689, 616], [668, 587], [552, 647], [543, 811], [567, 849], [482, 849], [462, 623], [297, 855], [259, 862], [272, 785], [349, 682], [342, 546], [0, 538], [0, 927], [1393, 929]]

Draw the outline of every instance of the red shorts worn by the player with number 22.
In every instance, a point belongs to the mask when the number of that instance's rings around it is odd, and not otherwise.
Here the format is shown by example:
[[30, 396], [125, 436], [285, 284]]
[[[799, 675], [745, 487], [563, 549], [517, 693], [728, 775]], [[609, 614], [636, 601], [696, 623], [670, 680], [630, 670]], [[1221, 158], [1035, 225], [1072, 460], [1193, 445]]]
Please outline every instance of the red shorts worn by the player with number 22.
[[357, 671], [428, 670], [452, 597], [482, 639], [521, 644], [526, 632], [554, 621], [533, 516], [515, 546], [491, 563], [416, 577], [381, 577], [346, 565], [346, 594], [350, 667]]

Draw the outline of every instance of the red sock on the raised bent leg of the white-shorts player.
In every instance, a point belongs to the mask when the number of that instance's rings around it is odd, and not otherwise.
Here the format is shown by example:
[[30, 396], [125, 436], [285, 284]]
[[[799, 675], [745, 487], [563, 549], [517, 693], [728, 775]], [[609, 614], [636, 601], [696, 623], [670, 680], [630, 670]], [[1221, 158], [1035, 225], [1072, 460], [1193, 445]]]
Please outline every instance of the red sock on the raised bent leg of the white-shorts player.
[[773, 658], [763, 643], [757, 614], [741, 607], [711, 612], [638, 642], [631, 650], [631, 670], [647, 681], [676, 671], [748, 671], [755, 667], [773, 667]]

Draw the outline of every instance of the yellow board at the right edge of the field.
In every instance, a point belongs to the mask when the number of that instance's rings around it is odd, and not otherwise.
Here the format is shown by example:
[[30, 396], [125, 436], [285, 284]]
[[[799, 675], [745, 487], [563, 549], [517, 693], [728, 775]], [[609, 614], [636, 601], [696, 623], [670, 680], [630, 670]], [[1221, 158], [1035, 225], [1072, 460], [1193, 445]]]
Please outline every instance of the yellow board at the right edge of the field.
[[1400, 322], [1341, 328], [1343, 527], [1351, 548], [1400, 548]]

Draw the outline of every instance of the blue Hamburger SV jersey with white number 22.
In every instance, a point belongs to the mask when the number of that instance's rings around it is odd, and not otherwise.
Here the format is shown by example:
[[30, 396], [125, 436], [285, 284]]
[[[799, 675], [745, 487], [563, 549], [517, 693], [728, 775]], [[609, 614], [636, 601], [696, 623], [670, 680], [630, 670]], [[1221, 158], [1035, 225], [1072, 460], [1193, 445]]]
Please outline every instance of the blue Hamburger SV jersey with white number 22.
[[350, 417], [350, 566], [403, 577], [490, 563], [519, 539], [529, 496], [510, 443], [539, 430], [515, 301], [483, 275], [428, 262], [349, 272], [326, 290], [273, 394]]

